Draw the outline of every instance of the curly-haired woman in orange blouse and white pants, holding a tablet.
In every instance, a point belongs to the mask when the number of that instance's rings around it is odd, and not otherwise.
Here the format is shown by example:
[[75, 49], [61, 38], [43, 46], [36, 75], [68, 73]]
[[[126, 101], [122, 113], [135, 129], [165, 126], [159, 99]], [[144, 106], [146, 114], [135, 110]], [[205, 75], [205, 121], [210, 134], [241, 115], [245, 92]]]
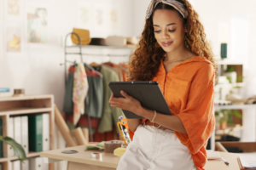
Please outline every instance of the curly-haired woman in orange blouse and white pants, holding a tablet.
[[172, 116], [143, 108], [125, 92], [112, 107], [145, 119], [129, 119], [133, 141], [118, 170], [204, 169], [214, 128], [217, 66], [198, 14], [188, 0], [152, 0], [138, 48], [131, 56], [131, 81], [159, 82]]

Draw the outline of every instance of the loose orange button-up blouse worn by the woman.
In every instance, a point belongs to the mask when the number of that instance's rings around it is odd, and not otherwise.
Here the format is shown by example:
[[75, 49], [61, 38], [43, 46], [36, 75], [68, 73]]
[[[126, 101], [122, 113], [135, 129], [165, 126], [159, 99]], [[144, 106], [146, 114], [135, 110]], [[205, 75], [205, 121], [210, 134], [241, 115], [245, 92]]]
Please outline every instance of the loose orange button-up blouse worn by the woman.
[[[214, 130], [214, 69], [205, 57], [196, 56], [176, 65], [166, 74], [163, 63], [152, 81], [158, 82], [173, 115], [178, 116], [187, 134], [175, 132], [187, 145], [195, 167], [207, 163], [207, 140]], [[146, 119], [142, 120], [142, 123]]]

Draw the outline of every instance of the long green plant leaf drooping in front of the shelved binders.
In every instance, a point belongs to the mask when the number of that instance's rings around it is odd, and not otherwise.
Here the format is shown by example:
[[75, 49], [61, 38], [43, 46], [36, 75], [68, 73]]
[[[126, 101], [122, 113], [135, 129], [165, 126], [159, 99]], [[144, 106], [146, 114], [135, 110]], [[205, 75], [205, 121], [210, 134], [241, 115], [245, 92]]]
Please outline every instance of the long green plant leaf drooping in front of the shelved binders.
[[18, 144], [15, 139], [11, 139], [9, 137], [2, 137], [0, 136], [0, 141], [5, 142], [6, 144], [9, 144], [15, 151], [15, 156], [18, 156], [18, 158], [20, 159], [20, 161], [24, 161], [26, 160], [26, 154], [25, 151], [23, 149], [23, 147]]

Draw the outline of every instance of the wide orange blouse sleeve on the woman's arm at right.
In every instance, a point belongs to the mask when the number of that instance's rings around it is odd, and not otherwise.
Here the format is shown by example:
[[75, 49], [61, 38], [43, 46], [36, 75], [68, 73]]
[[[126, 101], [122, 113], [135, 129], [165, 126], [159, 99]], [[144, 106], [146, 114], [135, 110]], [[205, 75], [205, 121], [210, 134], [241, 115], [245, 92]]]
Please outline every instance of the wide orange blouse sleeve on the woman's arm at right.
[[214, 79], [212, 65], [203, 65], [191, 82], [186, 108], [177, 114], [187, 131], [187, 134], [176, 132], [177, 137], [188, 146], [191, 154], [207, 144], [214, 130]]

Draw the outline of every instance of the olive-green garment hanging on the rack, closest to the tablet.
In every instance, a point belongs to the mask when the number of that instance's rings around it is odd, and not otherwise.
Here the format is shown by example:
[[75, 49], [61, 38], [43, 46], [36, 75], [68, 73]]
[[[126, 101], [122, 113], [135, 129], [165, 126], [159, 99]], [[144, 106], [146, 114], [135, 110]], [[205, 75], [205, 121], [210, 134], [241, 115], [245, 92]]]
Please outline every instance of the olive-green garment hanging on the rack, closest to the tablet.
[[[101, 122], [99, 124], [99, 133], [105, 133], [113, 130], [113, 124], [116, 126], [119, 122], [119, 116], [124, 116], [123, 112], [119, 108], [111, 107], [108, 103], [112, 95], [111, 89], [108, 87], [109, 82], [119, 82], [118, 74], [109, 68], [107, 65], [102, 65], [102, 76], [103, 76], [103, 115]], [[118, 127], [116, 127], [116, 132], [119, 133]]]

